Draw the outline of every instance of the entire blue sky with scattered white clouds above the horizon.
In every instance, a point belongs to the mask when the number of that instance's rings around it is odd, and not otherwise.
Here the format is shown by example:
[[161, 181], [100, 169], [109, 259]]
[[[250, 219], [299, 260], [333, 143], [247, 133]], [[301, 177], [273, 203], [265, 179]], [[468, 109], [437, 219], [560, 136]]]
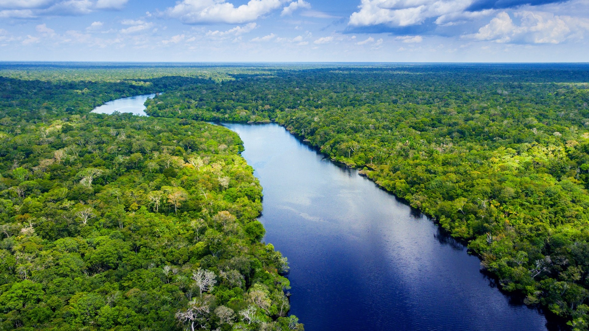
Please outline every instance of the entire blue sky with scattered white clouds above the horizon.
[[0, 61], [589, 62], [589, 0], [0, 0]]

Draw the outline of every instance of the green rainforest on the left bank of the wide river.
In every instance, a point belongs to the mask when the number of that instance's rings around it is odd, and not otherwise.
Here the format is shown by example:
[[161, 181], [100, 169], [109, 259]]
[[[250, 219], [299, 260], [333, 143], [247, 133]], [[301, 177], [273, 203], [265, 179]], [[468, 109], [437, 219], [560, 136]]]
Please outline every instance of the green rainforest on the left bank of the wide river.
[[0, 77], [1, 330], [302, 330], [239, 136], [90, 113], [197, 81]]

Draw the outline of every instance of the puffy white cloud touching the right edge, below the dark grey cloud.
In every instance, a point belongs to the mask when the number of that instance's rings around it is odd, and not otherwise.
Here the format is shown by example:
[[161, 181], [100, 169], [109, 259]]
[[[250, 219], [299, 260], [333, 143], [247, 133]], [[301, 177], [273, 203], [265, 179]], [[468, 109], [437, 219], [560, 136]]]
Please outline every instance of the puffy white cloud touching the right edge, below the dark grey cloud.
[[518, 18], [519, 24], [507, 12], [500, 12], [477, 33], [464, 38], [515, 44], [560, 44], [568, 39], [583, 39], [589, 31], [587, 18], [531, 11], [515, 12], [514, 18]]

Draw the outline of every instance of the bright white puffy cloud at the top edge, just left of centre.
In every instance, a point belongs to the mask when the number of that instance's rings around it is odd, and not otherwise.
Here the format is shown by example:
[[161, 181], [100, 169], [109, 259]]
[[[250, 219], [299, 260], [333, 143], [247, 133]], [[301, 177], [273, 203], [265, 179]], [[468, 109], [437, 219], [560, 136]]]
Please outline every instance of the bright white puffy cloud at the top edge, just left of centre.
[[237, 8], [226, 0], [183, 0], [166, 14], [186, 24], [252, 22], [282, 7], [285, 0], [250, 0]]

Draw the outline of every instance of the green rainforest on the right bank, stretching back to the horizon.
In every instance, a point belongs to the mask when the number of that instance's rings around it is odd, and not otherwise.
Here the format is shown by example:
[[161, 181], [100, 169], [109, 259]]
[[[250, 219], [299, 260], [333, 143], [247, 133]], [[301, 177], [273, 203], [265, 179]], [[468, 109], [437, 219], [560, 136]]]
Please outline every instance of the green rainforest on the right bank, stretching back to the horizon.
[[284, 125], [466, 240], [502, 289], [586, 329], [589, 65], [276, 69], [148, 102]]

